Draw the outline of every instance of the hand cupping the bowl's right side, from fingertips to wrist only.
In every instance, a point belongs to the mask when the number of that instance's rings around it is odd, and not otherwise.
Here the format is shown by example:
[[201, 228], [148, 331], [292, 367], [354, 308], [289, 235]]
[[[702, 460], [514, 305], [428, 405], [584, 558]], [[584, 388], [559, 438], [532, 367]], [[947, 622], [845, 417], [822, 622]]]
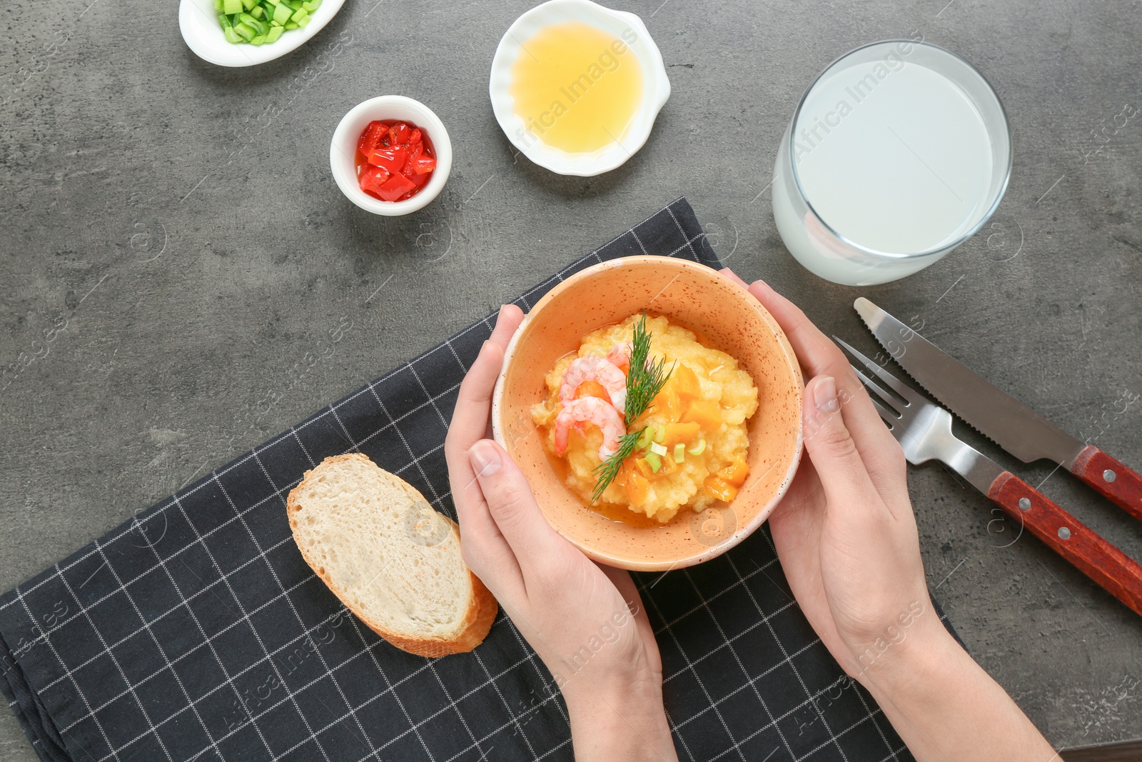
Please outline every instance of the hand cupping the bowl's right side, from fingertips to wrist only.
[[762, 281], [747, 287], [723, 273], [770, 311], [810, 379], [809, 457], [770, 528], [813, 629], [845, 672], [862, 680], [886, 644], [915, 629], [942, 629], [928, 600], [904, 454], [836, 344]]

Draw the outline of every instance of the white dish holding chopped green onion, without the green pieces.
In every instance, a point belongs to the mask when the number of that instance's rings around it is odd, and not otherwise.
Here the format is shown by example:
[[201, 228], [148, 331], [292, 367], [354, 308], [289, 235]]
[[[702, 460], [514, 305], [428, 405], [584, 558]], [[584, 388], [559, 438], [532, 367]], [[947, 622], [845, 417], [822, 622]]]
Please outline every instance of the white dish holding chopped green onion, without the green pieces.
[[214, 0], [183, 0], [178, 6], [178, 29], [186, 47], [203, 61], [218, 66], [254, 66], [297, 50], [332, 21], [345, 0], [323, 0], [305, 29], [286, 32], [270, 45], [234, 45], [226, 40], [218, 24]]

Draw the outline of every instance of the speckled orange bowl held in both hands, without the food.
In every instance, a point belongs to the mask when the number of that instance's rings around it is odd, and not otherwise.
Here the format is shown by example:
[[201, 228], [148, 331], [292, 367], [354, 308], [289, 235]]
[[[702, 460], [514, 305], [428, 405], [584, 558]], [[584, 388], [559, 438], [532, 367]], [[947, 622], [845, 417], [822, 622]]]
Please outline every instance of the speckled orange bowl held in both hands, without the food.
[[[685, 510], [665, 526], [614, 521], [563, 484], [540, 443], [531, 407], [544, 376], [582, 336], [641, 311], [661, 314], [705, 344], [730, 353], [758, 388], [749, 420], [749, 478], [738, 497], [702, 513]], [[637, 571], [708, 561], [748, 537], [793, 480], [802, 450], [802, 377], [777, 321], [721, 273], [685, 259], [642, 256], [604, 262], [570, 276], [531, 310], [504, 359], [492, 398], [492, 431], [528, 476], [544, 515], [589, 558]], [[637, 521], [636, 514], [630, 514]]]

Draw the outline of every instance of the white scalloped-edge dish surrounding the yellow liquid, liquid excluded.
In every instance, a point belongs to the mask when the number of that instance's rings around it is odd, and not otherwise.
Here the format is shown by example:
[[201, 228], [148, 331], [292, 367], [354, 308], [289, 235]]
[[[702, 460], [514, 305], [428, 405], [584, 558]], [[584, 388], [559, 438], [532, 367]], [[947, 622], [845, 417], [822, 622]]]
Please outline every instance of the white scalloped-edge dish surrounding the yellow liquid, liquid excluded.
[[[622, 40], [643, 71], [642, 102], [634, 122], [621, 141], [592, 153], [568, 153], [544, 143], [528, 131], [523, 118], [515, 113], [512, 98], [512, 65], [521, 54], [528, 55], [524, 49], [528, 40], [546, 26], [565, 22], [590, 24]], [[589, 177], [622, 165], [646, 143], [658, 112], [670, 97], [670, 80], [666, 75], [662, 54], [638, 16], [611, 10], [590, 0], [550, 0], [523, 14], [508, 27], [492, 59], [489, 93], [500, 128], [528, 159], [560, 175]]]

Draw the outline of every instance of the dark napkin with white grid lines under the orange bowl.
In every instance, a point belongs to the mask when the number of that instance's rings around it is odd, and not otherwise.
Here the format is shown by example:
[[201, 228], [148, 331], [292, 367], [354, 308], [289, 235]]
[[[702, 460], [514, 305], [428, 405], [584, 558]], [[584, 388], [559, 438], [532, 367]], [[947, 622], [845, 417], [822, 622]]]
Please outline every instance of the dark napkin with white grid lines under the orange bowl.
[[[718, 262], [679, 199], [517, 299], [632, 254]], [[361, 451], [455, 516], [443, 443], [491, 316], [140, 513], [0, 597], [0, 681], [42, 760], [570, 760], [552, 676], [502, 613], [425, 659], [347, 613], [290, 536], [286, 496]], [[794, 603], [766, 531], [638, 575], [682, 759], [910, 759]]]

